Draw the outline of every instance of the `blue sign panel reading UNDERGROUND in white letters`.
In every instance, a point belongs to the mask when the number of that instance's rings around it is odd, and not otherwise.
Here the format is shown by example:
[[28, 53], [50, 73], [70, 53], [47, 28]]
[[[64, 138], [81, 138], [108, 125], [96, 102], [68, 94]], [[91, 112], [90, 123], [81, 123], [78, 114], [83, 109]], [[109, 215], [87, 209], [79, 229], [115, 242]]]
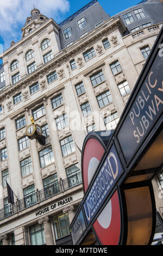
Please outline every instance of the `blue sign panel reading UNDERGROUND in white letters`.
[[101, 208], [111, 188], [114, 187], [122, 173], [121, 162], [118, 159], [114, 145], [112, 145], [83, 204], [87, 224]]

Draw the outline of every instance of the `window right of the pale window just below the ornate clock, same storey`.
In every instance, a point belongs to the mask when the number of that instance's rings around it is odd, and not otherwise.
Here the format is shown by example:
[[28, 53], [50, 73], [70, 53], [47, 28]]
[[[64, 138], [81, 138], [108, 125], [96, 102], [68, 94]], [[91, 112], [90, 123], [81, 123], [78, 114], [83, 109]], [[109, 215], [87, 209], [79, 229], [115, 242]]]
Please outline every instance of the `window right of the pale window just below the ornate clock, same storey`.
[[67, 155], [73, 153], [74, 151], [76, 151], [76, 149], [74, 147], [72, 135], [68, 136], [65, 139], [62, 139], [60, 141], [60, 145], [61, 145], [61, 150], [62, 150], [63, 156], [67, 156]]

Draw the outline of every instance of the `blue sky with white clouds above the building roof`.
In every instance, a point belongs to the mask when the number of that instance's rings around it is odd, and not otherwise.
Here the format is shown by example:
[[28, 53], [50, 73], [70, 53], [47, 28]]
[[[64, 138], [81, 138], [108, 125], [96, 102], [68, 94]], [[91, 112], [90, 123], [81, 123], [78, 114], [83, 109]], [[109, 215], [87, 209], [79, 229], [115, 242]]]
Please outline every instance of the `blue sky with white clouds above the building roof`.
[[[30, 11], [34, 8], [48, 18], [60, 23], [84, 7], [91, 0], [0, 0], [0, 53], [10, 47], [12, 40], [21, 40], [21, 28], [24, 26]], [[110, 16], [120, 13], [141, 0], [98, 0]], [[0, 60], [1, 64], [1, 60]]]

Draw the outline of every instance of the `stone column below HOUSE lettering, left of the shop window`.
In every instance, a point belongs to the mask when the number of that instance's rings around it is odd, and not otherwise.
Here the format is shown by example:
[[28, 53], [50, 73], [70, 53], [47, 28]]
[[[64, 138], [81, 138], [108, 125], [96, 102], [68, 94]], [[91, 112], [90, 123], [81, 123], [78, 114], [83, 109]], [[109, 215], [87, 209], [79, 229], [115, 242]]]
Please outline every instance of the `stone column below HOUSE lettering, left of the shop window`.
[[54, 239], [53, 239], [53, 233], [52, 233], [52, 227], [51, 227], [51, 218], [49, 216], [46, 216], [41, 218], [38, 222], [39, 224], [43, 223], [46, 245], [54, 245]]

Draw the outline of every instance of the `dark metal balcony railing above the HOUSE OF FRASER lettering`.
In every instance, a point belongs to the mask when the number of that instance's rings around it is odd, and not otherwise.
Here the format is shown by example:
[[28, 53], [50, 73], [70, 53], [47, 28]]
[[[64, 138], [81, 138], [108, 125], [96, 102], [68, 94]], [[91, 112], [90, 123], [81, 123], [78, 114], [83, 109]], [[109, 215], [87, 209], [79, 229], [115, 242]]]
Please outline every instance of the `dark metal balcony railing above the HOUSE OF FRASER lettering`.
[[59, 182], [56, 182], [53, 185], [49, 185], [43, 190], [36, 190], [33, 193], [30, 193], [29, 196], [24, 197], [21, 200], [17, 200], [14, 204], [8, 204], [3, 209], [0, 210], [0, 221], [4, 218], [8, 218], [11, 215], [17, 214], [20, 211], [23, 211], [37, 203], [40, 203], [47, 198], [53, 197], [59, 193], [77, 186], [82, 183], [82, 173], [76, 173], [67, 179], [62, 180], [60, 178]]

